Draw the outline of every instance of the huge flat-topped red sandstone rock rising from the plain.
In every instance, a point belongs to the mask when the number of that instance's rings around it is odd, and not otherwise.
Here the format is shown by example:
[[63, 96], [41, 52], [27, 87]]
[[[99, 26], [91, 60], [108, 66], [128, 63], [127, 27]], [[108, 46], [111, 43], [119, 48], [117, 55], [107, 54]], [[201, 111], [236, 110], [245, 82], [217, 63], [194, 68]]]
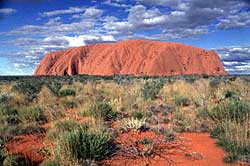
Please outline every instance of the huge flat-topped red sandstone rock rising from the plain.
[[129, 40], [48, 53], [34, 75], [227, 74], [215, 51], [189, 45]]

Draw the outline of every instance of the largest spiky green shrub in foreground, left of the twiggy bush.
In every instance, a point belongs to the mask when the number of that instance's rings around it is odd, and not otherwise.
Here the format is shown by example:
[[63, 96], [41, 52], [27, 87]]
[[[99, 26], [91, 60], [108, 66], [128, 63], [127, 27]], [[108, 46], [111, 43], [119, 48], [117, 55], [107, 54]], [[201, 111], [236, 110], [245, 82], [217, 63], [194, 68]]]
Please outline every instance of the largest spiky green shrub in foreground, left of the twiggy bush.
[[57, 141], [59, 156], [68, 156], [81, 161], [102, 160], [112, 151], [112, 134], [108, 130], [91, 130], [81, 127], [64, 133]]

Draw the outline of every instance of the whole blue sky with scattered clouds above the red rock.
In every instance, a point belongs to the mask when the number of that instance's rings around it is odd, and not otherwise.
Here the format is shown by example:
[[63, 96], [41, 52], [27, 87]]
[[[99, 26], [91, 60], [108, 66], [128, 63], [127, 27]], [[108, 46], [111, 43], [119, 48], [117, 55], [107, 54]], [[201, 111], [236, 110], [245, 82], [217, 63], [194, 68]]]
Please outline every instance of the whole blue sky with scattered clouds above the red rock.
[[250, 0], [2, 0], [0, 75], [30, 75], [50, 51], [151, 39], [215, 49], [250, 74]]

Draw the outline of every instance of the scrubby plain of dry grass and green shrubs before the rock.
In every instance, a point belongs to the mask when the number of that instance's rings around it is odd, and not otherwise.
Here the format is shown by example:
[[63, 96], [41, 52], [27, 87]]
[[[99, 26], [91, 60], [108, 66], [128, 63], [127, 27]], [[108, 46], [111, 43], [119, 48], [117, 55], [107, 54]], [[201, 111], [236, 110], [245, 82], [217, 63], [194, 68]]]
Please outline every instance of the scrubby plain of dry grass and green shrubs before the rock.
[[[0, 165], [31, 162], [5, 147], [20, 135], [43, 135], [53, 144], [42, 165], [97, 165], [121, 153], [147, 158], [165, 152], [177, 146], [181, 132], [209, 132], [226, 150], [225, 161], [249, 162], [249, 102], [245, 77], [79, 76], [1, 83]], [[117, 142], [131, 132], [156, 137], [138, 137], [131, 147]]]

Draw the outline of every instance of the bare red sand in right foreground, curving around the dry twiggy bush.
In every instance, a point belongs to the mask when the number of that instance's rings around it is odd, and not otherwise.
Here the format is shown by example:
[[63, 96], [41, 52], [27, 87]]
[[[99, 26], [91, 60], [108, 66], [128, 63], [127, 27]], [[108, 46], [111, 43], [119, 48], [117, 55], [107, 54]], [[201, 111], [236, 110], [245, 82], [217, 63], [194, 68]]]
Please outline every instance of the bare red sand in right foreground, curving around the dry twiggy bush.
[[[124, 133], [118, 136], [118, 142], [129, 144], [129, 142], [142, 138], [155, 139], [156, 135], [152, 132], [143, 133]], [[225, 152], [216, 146], [215, 141], [210, 138], [208, 133], [183, 133], [178, 135], [177, 142], [163, 147], [172, 146], [169, 151], [162, 151], [152, 158], [125, 157], [119, 154], [112, 159], [105, 161], [111, 166], [225, 166], [223, 157]], [[128, 141], [129, 140], [129, 141]], [[179, 146], [178, 146], [179, 145]], [[236, 165], [236, 164], [235, 164]]]

